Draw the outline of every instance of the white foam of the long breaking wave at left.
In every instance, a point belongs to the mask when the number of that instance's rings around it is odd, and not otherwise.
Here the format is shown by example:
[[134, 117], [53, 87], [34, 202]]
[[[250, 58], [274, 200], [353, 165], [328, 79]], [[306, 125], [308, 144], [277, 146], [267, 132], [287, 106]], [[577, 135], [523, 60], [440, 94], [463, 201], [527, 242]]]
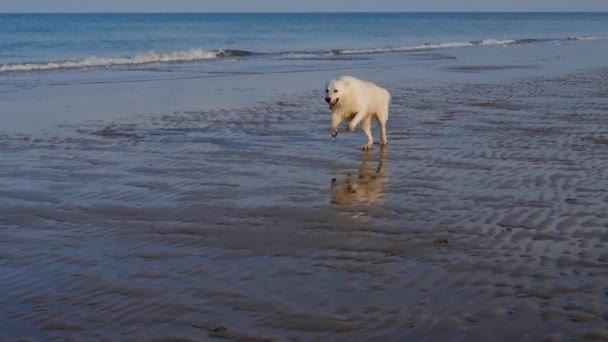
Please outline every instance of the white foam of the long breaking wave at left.
[[45, 71], [57, 69], [99, 68], [120, 65], [141, 65], [151, 63], [176, 63], [197, 61], [203, 59], [214, 59], [222, 55], [226, 55], [223, 50], [209, 51], [203, 49], [191, 49], [186, 51], [174, 51], [167, 53], [157, 53], [151, 51], [130, 57], [93, 56], [63, 61], [2, 64], [0, 65], [0, 72]]

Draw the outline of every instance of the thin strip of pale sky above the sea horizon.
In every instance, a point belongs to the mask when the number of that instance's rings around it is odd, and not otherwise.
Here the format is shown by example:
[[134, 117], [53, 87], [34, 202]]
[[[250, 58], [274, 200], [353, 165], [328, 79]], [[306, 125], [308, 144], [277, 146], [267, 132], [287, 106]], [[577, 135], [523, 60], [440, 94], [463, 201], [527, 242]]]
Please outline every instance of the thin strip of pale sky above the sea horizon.
[[608, 11], [608, 0], [0, 0], [0, 12]]

